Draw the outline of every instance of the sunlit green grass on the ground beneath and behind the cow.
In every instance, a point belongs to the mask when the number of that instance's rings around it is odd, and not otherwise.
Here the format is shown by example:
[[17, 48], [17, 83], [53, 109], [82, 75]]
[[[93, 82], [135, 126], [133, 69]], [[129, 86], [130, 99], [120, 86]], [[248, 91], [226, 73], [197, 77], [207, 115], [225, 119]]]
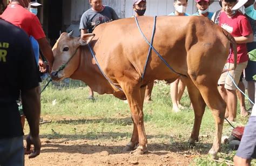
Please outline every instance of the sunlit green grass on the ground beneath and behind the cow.
[[[46, 82], [42, 83], [42, 88], [45, 84]], [[86, 99], [87, 96], [86, 85], [80, 81], [71, 80], [69, 86], [63, 88], [50, 84], [42, 93], [42, 117], [53, 121], [41, 126], [41, 137], [70, 140], [125, 140], [131, 137], [133, 126], [127, 103], [112, 95], [96, 93], [94, 101]], [[180, 113], [173, 113], [170, 85], [161, 81], [154, 86], [152, 99], [153, 102], [144, 105], [144, 122], [149, 140], [168, 144], [167, 150], [169, 148], [200, 154], [193, 165], [227, 165], [224, 162], [217, 163], [207, 155], [215, 130], [210, 109], [206, 108], [201, 124], [200, 135], [203, 137], [200, 137], [196, 147], [190, 147], [187, 140], [193, 127], [193, 110], [185, 109]], [[190, 106], [187, 91], [181, 103], [187, 108]], [[246, 104], [248, 106], [248, 101]], [[237, 121], [242, 125], [247, 122], [247, 118], [240, 117], [239, 110]], [[224, 134], [229, 135], [231, 130], [230, 126], [224, 125]], [[219, 156], [232, 161], [234, 154], [235, 151], [223, 146]], [[253, 164], [256, 162], [253, 161]]]

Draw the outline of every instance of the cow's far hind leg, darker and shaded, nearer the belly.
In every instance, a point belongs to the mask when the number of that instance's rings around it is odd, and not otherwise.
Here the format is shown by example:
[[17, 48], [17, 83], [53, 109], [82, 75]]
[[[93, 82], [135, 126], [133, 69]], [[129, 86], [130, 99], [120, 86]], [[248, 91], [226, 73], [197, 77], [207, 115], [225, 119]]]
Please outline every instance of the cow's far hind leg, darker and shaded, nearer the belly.
[[205, 112], [206, 104], [198, 88], [193, 84], [191, 79], [190, 78], [181, 78], [181, 79], [185, 82], [187, 86], [187, 91], [190, 96], [190, 100], [192, 102], [193, 109], [194, 109], [194, 126], [193, 126], [193, 130], [189, 140], [190, 144], [194, 144], [194, 142], [198, 141], [199, 130], [201, 126], [202, 117]]

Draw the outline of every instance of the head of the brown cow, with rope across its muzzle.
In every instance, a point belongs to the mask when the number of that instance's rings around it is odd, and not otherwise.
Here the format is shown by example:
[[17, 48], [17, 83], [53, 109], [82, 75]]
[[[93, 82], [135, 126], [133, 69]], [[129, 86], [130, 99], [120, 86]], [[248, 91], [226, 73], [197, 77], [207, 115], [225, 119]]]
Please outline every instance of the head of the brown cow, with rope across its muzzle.
[[90, 43], [95, 34], [87, 33], [81, 38], [72, 37], [73, 31], [70, 33], [62, 33], [52, 48], [53, 65], [51, 78], [55, 81], [61, 81], [69, 78], [79, 65], [79, 49], [81, 45]]

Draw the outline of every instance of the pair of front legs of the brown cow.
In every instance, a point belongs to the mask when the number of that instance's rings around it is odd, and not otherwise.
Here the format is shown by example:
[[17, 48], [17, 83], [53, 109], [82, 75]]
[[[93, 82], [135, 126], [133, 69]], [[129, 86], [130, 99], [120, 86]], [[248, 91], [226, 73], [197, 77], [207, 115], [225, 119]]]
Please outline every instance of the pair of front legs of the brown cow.
[[143, 101], [145, 96], [145, 87], [140, 88], [139, 86], [130, 85], [125, 86], [123, 90], [130, 105], [131, 116], [133, 120], [133, 133], [131, 141], [126, 145], [125, 150], [133, 150], [136, 144], [139, 143], [137, 149], [131, 153], [144, 154], [144, 151], [147, 149], [147, 139], [143, 121]]

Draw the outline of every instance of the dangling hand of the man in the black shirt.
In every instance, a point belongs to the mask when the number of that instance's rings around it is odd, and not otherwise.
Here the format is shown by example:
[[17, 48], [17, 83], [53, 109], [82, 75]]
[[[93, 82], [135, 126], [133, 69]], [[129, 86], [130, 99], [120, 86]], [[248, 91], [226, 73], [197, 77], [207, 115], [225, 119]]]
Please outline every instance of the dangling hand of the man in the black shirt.
[[[34, 149], [33, 151], [30, 150], [31, 145], [34, 145]], [[38, 156], [40, 154], [41, 151], [41, 141], [39, 139], [39, 136], [31, 136], [31, 134], [29, 134], [26, 137], [26, 151], [25, 154], [30, 154], [29, 158], [34, 158], [36, 156]]]

